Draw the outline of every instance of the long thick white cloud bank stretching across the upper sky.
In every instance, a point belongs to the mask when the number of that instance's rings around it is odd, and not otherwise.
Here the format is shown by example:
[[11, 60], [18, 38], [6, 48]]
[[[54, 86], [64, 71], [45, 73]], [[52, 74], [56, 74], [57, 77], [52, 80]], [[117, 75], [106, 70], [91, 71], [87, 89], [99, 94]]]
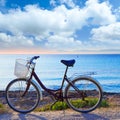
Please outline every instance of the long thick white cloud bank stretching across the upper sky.
[[[94, 24], [109, 24], [115, 22], [115, 16], [111, 13], [110, 6], [105, 2], [86, 3], [86, 7], [80, 9], [75, 7], [67, 9], [64, 5], [54, 10], [42, 10], [37, 6], [26, 6], [24, 11], [20, 9], [11, 10], [8, 14], [0, 14], [0, 28], [13, 33], [24, 32], [29, 34], [40, 34], [45, 31], [66, 31], [81, 29], [93, 19]], [[102, 12], [102, 14], [101, 14]], [[12, 23], [12, 24], [11, 24]]]

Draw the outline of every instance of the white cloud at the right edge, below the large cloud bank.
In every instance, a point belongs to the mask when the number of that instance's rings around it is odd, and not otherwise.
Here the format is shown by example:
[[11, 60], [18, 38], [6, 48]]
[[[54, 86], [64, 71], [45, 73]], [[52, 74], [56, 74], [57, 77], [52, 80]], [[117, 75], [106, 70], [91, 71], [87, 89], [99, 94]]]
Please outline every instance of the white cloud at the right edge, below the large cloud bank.
[[91, 34], [91, 39], [93, 40], [112, 44], [120, 44], [120, 22], [113, 23], [107, 26], [101, 26], [99, 28], [94, 28], [91, 31]]

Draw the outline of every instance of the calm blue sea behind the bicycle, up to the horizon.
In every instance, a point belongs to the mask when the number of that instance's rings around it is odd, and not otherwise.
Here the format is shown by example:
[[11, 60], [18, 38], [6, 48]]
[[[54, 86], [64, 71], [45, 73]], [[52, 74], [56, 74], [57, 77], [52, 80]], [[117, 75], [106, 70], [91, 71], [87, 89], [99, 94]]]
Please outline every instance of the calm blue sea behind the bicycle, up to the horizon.
[[68, 70], [69, 78], [91, 76], [101, 84], [103, 91], [120, 93], [120, 54], [1, 54], [0, 90], [5, 90], [8, 83], [17, 78], [14, 75], [16, 59], [28, 60], [35, 55], [40, 56], [35, 71], [48, 88], [57, 89], [61, 85], [66, 68], [61, 60], [75, 59], [74, 66]]

